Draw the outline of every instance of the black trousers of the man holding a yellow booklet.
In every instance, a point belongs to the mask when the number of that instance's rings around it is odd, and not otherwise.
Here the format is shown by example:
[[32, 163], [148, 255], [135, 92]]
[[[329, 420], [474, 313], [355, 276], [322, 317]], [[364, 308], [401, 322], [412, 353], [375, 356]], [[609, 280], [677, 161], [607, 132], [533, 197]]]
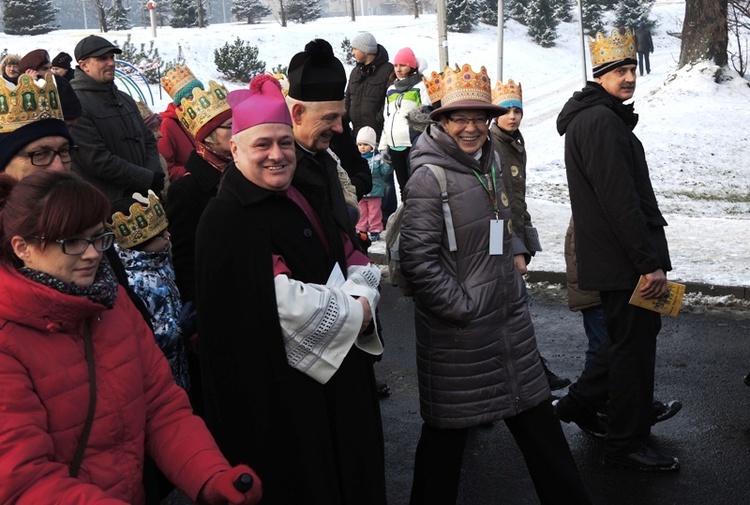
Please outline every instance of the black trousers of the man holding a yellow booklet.
[[579, 407], [609, 416], [605, 451], [629, 454], [651, 432], [656, 336], [661, 315], [630, 305], [630, 290], [601, 291], [609, 340], [568, 390]]

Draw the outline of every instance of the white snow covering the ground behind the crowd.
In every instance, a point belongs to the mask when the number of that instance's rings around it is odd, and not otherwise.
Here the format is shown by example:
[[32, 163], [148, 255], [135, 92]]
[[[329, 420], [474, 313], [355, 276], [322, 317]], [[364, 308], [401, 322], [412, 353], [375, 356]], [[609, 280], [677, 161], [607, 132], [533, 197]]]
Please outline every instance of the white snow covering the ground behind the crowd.
[[[750, 87], [736, 74], [716, 84], [716, 68], [700, 64], [677, 70], [679, 39], [667, 32], [680, 32], [684, 2], [659, 2], [652, 17], [659, 25], [653, 33], [655, 52], [652, 72], [639, 78], [635, 95], [640, 121], [635, 130], [646, 149], [654, 189], [669, 227], [677, 281], [709, 285], [750, 286]], [[562, 272], [563, 238], [570, 217], [563, 162], [563, 139], [555, 129], [557, 114], [565, 101], [583, 86], [581, 41], [576, 22], [563, 23], [554, 48], [531, 42], [525, 27], [506, 24], [503, 79], [521, 82], [525, 117], [521, 131], [526, 138], [528, 160], [528, 206], [540, 231], [544, 251], [531, 264], [533, 270]], [[213, 51], [235, 37], [259, 49], [266, 68], [288, 65], [291, 57], [309, 40], [328, 40], [343, 60], [344, 38], [353, 39], [369, 31], [391, 57], [409, 46], [428, 62], [427, 72], [438, 69], [436, 16], [360, 16], [324, 18], [304, 25], [281, 28], [275, 21], [257, 25], [213, 24], [205, 29], [159, 28], [155, 47], [165, 60], [182, 48], [187, 65], [204, 82], [222, 80], [213, 63]], [[497, 77], [497, 30], [480, 25], [470, 34], [448, 34], [450, 63], [470, 63], [475, 70], [484, 65]], [[0, 34], [0, 49], [21, 55], [35, 48], [73, 54], [83, 30], [60, 30], [38, 36]], [[139, 46], [151, 40], [150, 28], [104, 34], [122, 44], [127, 34]], [[587, 49], [588, 51], [588, 49]], [[587, 68], [588, 68], [587, 56]], [[351, 67], [347, 67], [349, 70]], [[590, 74], [590, 72], [589, 72]], [[244, 86], [227, 83], [230, 89]], [[169, 97], [158, 86], [151, 87], [154, 110], [162, 110]], [[376, 244], [382, 248], [382, 241]]]

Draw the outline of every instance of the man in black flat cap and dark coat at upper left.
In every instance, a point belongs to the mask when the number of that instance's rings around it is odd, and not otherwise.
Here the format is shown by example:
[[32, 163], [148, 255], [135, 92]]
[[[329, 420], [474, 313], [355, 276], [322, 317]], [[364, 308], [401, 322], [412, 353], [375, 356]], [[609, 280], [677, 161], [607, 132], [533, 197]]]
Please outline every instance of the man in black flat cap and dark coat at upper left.
[[156, 138], [135, 101], [115, 86], [115, 54], [108, 40], [89, 35], [75, 48], [78, 66], [70, 82], [83, 114], [71, 129], [79, 146], [73, 170], [99, 188], [110, 201], [137, 191], [157, 194], [164, 188]]

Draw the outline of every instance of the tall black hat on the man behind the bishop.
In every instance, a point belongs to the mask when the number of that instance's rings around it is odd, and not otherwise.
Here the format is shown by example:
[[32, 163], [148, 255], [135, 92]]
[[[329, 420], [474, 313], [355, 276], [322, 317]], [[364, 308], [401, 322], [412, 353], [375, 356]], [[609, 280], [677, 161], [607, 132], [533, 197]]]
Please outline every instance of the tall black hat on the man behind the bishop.
[[346, 72], [328, 41], [315, 39], [289, 62], [289, 96], [303, 102], [344, 99]]

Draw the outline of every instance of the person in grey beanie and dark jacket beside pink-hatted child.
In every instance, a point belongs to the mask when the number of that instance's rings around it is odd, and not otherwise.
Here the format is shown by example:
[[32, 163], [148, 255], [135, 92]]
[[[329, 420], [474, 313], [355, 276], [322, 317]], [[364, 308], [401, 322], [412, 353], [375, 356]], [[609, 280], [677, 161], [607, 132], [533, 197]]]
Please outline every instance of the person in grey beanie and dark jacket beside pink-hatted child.
[[363, 126], [374, 129], [380, 138], [385, 92], [396, 79], [393, 65], [388, 61], [388, 51], [368, 32], [354, 37], [352, 56], [357, 65], [349, 75], [344, 121], [351, 121], [353, 138]]

